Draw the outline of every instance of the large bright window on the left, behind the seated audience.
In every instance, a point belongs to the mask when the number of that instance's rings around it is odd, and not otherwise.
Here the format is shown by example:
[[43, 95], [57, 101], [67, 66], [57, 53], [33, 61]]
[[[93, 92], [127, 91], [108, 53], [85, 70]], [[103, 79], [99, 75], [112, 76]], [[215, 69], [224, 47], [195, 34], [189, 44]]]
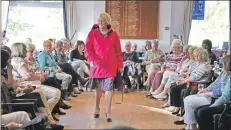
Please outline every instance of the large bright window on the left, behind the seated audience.
[[36, 49], [43, 48], [49, 38], [64, 35], [62, 1], [10, 1], [7, 24], [9, 45], [30, 37]]

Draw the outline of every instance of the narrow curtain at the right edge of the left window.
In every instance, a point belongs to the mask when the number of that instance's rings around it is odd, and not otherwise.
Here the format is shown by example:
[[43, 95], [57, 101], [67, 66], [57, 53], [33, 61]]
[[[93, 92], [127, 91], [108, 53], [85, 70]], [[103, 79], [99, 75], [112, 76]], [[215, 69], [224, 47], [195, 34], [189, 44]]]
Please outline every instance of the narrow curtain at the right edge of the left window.
[[64, 32], [73, 45], [77, 41], [77, 2], [63, 0]]

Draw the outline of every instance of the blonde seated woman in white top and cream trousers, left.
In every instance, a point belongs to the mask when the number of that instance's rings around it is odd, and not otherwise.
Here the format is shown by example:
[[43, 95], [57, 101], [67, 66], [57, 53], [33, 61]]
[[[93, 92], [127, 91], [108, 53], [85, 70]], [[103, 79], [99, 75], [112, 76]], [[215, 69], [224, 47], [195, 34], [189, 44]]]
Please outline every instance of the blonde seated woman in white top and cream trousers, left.
[[41, 73], [40, 75], [35, 74], [35, 70], [29, 67], [29, 64], [25, 62], [24, 58], [27, 54], [26, 45], [23, 43], [14, 43], [11, 47], [12, 59], [11, 64], [13, 66], [14, 78], [17, 81], [17, 86], [36, 86], [35, 90], [32, 92], [39, 92], [43, 103], [45, 105], [45, 110], [48, 113], [48, 119], [51, 124], [56, 124], [55, 120], [51, 115], [51, 111], [58, 103], [61, 92], [57, 88], [42, 85], [41, 82], [45, 81], [46, 74]]

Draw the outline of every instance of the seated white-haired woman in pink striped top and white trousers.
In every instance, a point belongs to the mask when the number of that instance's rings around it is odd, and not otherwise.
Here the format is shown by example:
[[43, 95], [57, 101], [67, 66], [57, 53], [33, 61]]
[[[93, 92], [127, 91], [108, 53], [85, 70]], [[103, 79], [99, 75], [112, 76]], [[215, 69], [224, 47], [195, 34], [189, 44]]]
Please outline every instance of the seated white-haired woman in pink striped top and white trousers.
[[[172, 43], [172, 54], [168, 55], [166, 57], [166, 61], [162, 67], [165, 67], [162, 69], [163, 78], [161, 80], [161, 84], [158, 87], [157, 90], [154, 91], [152, 94], [154, 98], [156, 99], [166, 99], [168, 89], [170, 88], [171, 81], [168, 80], [170, 75], [177, 75], [177, 72], [175, 71], [177, 69], [177, 66], [180, 64], [180, 61], [183, 58], [183, 54], [181, 53], [181, 40], [175, 39]], [[164, 71], [163, 71], [164, 70]]]

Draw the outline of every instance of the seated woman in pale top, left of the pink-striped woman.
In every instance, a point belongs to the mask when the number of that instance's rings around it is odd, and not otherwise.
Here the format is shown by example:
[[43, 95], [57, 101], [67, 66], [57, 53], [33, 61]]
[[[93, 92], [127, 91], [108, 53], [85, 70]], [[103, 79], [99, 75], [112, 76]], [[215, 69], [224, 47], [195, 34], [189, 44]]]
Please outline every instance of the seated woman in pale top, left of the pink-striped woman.
[[[154, 71], [160, 71], [161, 65], [164, 62], [164, 52], [159, 49], [159, 41], [156, 39], [153, 42], [152, 49], [146, 51], [144, 55], [143, 64], [146, 66], [146, 71], [148, 73], [148, 79], [150, 78], [150, 74]], [[150, 83], [145, 82], [144, 86]]]

